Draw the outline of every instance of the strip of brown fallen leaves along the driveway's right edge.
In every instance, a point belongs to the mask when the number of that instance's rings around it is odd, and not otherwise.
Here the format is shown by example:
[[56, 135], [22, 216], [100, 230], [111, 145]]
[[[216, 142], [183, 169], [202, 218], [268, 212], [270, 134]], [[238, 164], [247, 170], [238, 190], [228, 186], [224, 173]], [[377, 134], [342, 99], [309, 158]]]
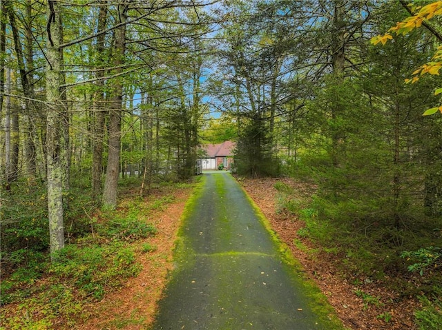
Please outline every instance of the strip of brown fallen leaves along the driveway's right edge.
[[[345, 274], [338, 256], [326, 254], [309, 240], [298, 237], [297, 231], [304, 227], [304, 223], [279, 209], [276, 203], [278, 191], [274, 187], [277, 181], [292, 187], [295, 195], [312, 192], [309, 185], [297, 183], [289, 178], [239, 180], [247, 194], [269, 219], [279, 238], [290, 247], [307, 274], [327, 296], [345, 327], [355, 330], [417, 329], [413, 315], [414, 310], [419, 308], [416, 299], [403, 298], [401, 293], [388, 288], [385, 283], [369, 278], [365, 279], [362, 285], [356, 285], [355, 282], [361, 280], [352, 278], [351, 274]], [[295, 239], [302, 240], [302, 245], [308, 247], [307, 251], [298, 248], [294, 244]], [[314, 253], [311, 253], [313, 250]]]

